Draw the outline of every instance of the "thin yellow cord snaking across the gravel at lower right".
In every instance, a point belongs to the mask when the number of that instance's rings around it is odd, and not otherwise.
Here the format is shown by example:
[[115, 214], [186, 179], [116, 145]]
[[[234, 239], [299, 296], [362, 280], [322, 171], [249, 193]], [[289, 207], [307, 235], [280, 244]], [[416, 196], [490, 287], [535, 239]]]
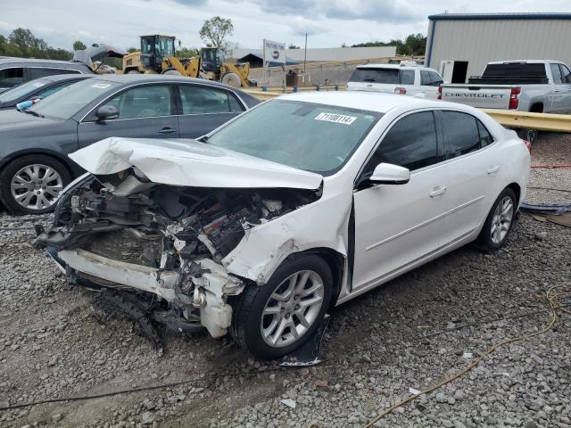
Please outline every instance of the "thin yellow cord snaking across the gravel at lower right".
[[550, 329], [553, 328], [553, 325], [555, 325], [555, 323], [557, 323], [557, 311], [558, 310], [561, 310], [562, 312], [565, 312], [567, 314], [571, 314], [571, 311], [569, 309], [564, 308], [563, 305], [561, 305], [559, 303], [559, 300], [558, 300], [560, 297], [571, 296], [571, 290], [569, 290], [569, 289], [564, 289], [563, 291], [560, 290], [561, 288], [564, 288], [567, 285], [568, 285], [568, 283], [554, 285], [554, 286], [550, 287], [550, 289], [547, 291], [546, 298], [547, 298], [547, 301], [550, 305], [550, 316], [551, 317], [550, 317], [550, 322], [548, 323], [548, 325], [546, 325], [542, 330], [540, 330], [539, 332], [526, 333], [526, 334], [522, 334], [521, 336], [505, 339], [501, 342], [498, 342], [498, 343], [492, 345], [488, 350], [486, 350], [484, 352], [484, 354], [482, 354], [480, 357], [476, 358], [468, 366], [461, 369], [458, 373], [452, 374], [451, 377], [444, 379], [443, 381], [441, 381], [439, 383], [435, 383], [432, 386], [429, 386], [428, 388], [426, 388], [426, 390], [420, 391], [416, 395], [411, 395], [407, 399], [401, 399], [401, 401], [398, 401], [397, 403], [393, 404], [393, 406], [387, 408], [386, 410], [384, 410], [383, 412], [381, 412], [377, 416], [375, 416], [371, 421], [368, 422], [368, 424], [365, 425], [364, 428], [370, 428], [371, 426], [376, 424], [377, 421], [379, 421], [381, 418], [383, 418], [384, 416], [393, 412], [393, 410], [395, 408], [401, 407], [401, 406], [405, 405], [406, 403], [412, 401], [413, 399], [418, 399], [418, 397], [420, 397], [421, 395], [426, 395], [426, 394], [428, 394], [434, 390], [437, 390], [438, 388], [446, 385], [447, 383], [451, 383], [451, 382], [455, 381], [456, 379], [458, 379], [463, 374], [467, 374], [470, 370], [472, 370], [474, 367], [476, 367], [478, 364], [480, 364], [480, 362], [484, 358], [486, 358], [488, 355], [490, 355], [492, 352], [494, 352], [495, 350], [497, 350], [501, 346], [507, 345], [509, 343], [525, 341], [526, 339], [530, 339], [532, 337], [539, 336], [543, 333], [549, 332]]

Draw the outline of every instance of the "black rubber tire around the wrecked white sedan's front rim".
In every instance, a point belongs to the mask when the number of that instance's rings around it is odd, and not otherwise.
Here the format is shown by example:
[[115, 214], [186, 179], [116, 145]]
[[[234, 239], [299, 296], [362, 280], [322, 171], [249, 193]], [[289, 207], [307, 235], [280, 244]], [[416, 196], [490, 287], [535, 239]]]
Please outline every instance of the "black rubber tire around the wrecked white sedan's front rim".
[[[312, 271], [319, 275], [322, 280], [323, 300], [321, 301], [319, 313], [299, 339], [282, 347], [270, 346], [264, 341], [261, 334], [262, 311], [270, 300], [270, 295], [277, 291], [280, 284], [288, 277], [294, 275], [294, 273], [300, 271]], [[277, 268], [274, 275], [269, 279], [268, 284], [262, 286], [248, 284], [244, 288], [244, 292], [233, 301], [230, 301], [233, 309], [230, 333], [236, 343], [245, 347], [258, 358], [274, 359], [284, 357], [301, 347], [315, 332], [315, 329], [325, 316], [331, 301], [332, 285], [333, 276], [327, 261], [315, 254], [290, 257]], [[294, 316], [292, 316], [292, 319], [294, 319]]]

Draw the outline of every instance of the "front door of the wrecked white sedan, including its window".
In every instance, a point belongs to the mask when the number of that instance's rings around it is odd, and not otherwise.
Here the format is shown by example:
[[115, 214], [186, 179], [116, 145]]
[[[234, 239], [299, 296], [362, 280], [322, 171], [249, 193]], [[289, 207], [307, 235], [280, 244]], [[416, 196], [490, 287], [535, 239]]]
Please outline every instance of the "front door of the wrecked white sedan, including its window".
[[[385, 134], [353, 194], [353, 291], [396, 275], [438, 248], [448, 186], [442, 161], [432, 111], [401, 117]], [[381, 162], [410, 169], [409, 183], [368, 185], [366, 178]]]

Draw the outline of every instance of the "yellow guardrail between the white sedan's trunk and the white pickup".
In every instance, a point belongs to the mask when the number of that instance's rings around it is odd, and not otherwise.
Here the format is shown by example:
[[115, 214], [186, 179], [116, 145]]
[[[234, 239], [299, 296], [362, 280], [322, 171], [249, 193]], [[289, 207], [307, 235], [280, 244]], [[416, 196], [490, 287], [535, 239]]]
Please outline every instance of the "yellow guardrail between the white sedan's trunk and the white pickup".
[[540, 131], [571, 132], [571, 115], [551, 113], [530, 113], [527, 111], [509, 111], [482, 109], [501, 125], [509, 128], [529, 128]]

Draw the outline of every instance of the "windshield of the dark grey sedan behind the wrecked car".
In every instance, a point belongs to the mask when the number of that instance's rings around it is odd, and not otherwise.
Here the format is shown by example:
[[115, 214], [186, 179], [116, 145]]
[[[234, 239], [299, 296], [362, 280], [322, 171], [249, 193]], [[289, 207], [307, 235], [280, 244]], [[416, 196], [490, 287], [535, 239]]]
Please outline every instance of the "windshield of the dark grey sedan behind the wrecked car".
[[96, 78], [87, 78], [50, 95], [40, 103], [34, 104], [28, 112], [49, 119], [70, 119], [75, 113], [93, 102], [101, 95], [112, 91], [119, 83]]

